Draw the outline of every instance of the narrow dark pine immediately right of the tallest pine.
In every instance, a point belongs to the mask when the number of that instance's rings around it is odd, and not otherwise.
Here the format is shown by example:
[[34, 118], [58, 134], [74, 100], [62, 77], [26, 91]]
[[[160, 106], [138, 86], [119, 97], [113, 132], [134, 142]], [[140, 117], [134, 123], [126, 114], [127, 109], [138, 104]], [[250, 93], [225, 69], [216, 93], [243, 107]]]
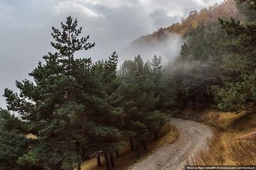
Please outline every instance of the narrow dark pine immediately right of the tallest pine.
[[[108, 160], [108, 155], [116, 152], [121, 146], [125, 145], [123, 142], [123, 131], [121, 128], [121, 113], [120, 95], [117, 92], [120, 86], [120, 80], [117, 77], [117, 54], [113, 54], [105, 61], [97, 61], [92, 68], [93, 76], [99, 81], [100, 89], [104, 93], [104, 104], [97, 107], [98, 112], [90, 115], [89, 119], [93, 120], [91, 130], [92, 142], [96, 143], [97, 150], [103, 151], [105, 159]], [[111, 158], [111, 164], [114, 164], [114, 158]], [[107, 165], [107, 168], [109, 165]]]

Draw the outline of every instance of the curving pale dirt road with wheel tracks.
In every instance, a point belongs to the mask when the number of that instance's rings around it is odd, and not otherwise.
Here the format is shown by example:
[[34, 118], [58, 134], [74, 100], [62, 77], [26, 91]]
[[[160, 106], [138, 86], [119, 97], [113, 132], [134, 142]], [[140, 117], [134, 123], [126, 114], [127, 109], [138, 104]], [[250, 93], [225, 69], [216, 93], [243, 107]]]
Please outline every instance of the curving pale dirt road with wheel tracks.
[[190, 162], [197, 151], [206, 147], [207, 139], [212, 137], [211, 129], [199, 122], [173, 118], [171, 124], [179, 129], [179, 139], [163, 146], [159, 151], [130, 169], [184, 169], [186, 162]]

